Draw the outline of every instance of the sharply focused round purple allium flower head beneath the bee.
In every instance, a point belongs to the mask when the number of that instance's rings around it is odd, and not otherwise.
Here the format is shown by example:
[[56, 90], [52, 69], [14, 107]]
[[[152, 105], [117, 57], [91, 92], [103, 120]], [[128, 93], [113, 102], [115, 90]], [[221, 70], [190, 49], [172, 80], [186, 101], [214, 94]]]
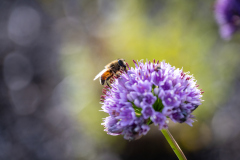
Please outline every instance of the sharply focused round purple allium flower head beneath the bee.
[[134, 140], [147, 134], [152, 123], [167, 128], [167, 118], [191, 126], [191, 113], [201, 104], [203, 93], [194, 77], [164, 61], [134, 63], [136, 68], [128, 66], [111, 88], [103, 89], [102, 109], [109, 114], [102, 123], [105, 131]]

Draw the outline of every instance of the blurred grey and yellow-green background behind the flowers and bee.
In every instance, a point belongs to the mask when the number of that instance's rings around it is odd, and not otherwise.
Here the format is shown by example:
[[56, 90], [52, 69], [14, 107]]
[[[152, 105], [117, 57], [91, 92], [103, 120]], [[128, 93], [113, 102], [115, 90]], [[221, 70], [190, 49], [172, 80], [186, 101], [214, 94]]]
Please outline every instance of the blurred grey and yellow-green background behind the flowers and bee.
[[165, 60], [195, 76], [193, 127], [170, 122], [188, 159], [240, 159], [240, 38], [223, 41], [214, 0], [1, 0], [0, 159], [177, 159], [155, 126], [126, 141], [103, 131], [103, 86], [117, 58]]

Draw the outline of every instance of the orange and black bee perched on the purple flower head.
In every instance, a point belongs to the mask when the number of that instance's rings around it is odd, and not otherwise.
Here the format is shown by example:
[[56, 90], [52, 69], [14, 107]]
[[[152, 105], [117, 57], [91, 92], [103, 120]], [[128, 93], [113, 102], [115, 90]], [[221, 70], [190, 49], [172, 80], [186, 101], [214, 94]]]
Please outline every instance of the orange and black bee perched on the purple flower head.
[[125, 72], [126, 70], [126, 62], [124, 59], [117, 59], [105, 66], [105, 69], [103, 69], [98, 75], [95, 76], [93, 80], [96, 80], [98, 77], [100, 80], [100, 84], [104, 85], [105, 81], [107, 85], [110, 87], [108, 84], [108, 80], [111, 79], [114, 75], [118, 76], [119, 71], [123, 69]]

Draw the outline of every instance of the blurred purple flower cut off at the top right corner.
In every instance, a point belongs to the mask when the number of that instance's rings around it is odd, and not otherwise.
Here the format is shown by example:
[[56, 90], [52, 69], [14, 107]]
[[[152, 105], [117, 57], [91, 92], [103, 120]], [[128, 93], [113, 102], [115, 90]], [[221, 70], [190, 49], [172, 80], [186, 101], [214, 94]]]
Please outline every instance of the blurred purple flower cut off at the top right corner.
[[240, 1], [217, 0], [215, 17], [220, 27], [221, 37], [225, 40], [231, 39], [233, 33], [240, 28]]

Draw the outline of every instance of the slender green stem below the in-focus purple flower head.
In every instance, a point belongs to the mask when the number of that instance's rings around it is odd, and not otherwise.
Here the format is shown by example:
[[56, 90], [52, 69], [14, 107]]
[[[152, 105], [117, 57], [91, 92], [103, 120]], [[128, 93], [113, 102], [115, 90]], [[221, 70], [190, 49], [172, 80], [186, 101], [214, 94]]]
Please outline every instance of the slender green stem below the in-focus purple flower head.
[[175, 139], [173, 138], [173, 136], [171, 135], [169, 130], [168, 129], [161, 129], [161, 131], [162, 131], [163, 135], [165, 136], [165, 138], [167, 139], [170, 146], [172, 147], [173, 151], [177, 155], [178, 159], [179, 160], [187, 160], [187, 158], [183, 154], [181, 148], [178, 146], [177, 142], [175, 141]]

